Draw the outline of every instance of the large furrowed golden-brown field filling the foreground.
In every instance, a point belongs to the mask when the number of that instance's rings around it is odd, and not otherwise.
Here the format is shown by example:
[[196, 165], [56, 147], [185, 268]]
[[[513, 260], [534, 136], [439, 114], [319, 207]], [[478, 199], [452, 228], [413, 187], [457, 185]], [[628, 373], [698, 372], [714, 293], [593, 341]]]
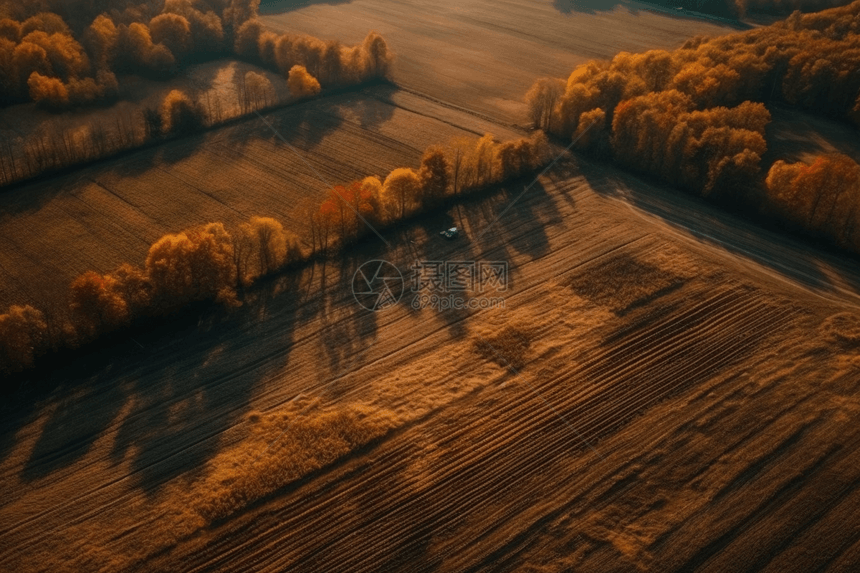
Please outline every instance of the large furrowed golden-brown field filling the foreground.
[[[432, 216], [56, 372], [4, 422], [0, 567], [849, 570], [856, 273], [603, 167], [559, 170], [480, 241], [513, 190], [467, 205], [459, 243], [425, 236], [457, 215]], [[348, 284], [371, 258], [508, 261], [506, 307], [367, 312]], [[284, 456], [275, 490], [242, 486], [244, 510], [211, 521], [212, 480]]]

